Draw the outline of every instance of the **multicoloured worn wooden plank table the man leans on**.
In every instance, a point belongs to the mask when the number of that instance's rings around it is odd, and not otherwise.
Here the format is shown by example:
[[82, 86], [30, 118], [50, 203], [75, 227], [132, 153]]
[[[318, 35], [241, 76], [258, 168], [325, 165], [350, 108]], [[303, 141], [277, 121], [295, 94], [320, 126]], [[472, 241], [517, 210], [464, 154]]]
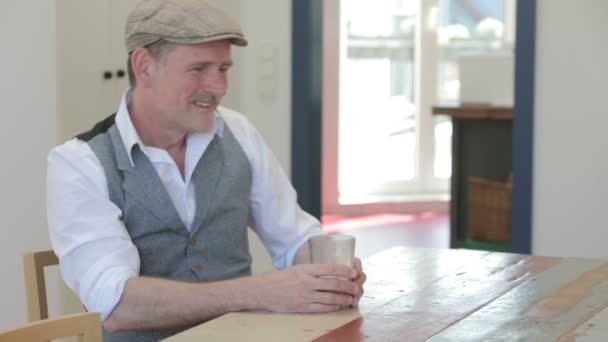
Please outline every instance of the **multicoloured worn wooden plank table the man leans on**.
[[608, 341], [608, 262], [394, 247], [358, 309], [230, 313], [166, 341]]

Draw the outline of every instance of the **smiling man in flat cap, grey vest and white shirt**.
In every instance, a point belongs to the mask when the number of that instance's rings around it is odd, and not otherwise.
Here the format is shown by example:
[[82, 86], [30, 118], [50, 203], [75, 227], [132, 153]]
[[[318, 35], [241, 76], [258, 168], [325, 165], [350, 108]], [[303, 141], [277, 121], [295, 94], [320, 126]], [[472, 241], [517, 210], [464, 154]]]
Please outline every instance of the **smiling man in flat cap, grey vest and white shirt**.
[[[318, 221], [247, 119], [219, 106], [231, 45], [247, 45], [239, 26], [202, 0], [143, 1], [127, 19], [132, 84], [118, 112], [49, 153], [51, 241], [106, 341], [361, 298], [358, 259], [307, 264]], [[279, 271], [251, 276], [247, 225]]]

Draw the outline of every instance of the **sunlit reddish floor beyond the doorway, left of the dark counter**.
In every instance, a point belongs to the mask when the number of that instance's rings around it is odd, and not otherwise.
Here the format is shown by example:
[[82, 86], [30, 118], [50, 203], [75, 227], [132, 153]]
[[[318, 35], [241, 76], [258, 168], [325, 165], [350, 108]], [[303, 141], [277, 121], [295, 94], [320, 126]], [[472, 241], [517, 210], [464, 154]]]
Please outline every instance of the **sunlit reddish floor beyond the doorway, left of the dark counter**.
[[323, 229], [353, 235], [356, 255], [365, 258], [383, 249], [402, 245], [449, 248], [450, 220], [447, 213], [379, 214], [361, 217], [324, 215]]

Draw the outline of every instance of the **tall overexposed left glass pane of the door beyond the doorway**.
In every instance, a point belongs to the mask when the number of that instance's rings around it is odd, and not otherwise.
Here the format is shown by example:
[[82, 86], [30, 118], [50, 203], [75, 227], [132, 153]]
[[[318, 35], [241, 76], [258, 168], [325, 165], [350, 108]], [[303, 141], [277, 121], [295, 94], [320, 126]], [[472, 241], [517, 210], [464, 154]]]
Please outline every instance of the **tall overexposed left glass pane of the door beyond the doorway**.
[[340, 198], [386, 194], [417, 178], [415, 28], [412, 1], [342, 2]]

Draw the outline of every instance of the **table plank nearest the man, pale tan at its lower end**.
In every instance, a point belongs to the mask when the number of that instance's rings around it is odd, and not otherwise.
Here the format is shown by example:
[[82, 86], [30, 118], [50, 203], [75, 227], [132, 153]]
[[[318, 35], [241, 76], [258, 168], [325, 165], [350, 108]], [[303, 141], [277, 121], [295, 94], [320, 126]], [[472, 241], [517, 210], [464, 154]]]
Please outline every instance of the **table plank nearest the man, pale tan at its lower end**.
[[229, 313], [166, 341], [310, 341], [488, 255], [471, 250], [394, 247], [364, 260], [368, 281], [358, 309], [329, 314]]

